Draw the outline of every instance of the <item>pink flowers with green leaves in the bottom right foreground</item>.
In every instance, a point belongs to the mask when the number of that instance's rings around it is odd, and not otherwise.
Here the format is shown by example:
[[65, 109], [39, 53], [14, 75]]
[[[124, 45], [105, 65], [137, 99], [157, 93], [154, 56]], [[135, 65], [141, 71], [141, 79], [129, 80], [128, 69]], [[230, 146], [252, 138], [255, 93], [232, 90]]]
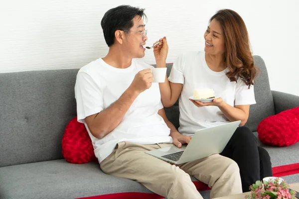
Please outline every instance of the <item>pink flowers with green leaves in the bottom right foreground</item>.
[[281, 178], [267, 178], [250, 186], [250, 195], [246, 199], [296, 199], [296, 192]]

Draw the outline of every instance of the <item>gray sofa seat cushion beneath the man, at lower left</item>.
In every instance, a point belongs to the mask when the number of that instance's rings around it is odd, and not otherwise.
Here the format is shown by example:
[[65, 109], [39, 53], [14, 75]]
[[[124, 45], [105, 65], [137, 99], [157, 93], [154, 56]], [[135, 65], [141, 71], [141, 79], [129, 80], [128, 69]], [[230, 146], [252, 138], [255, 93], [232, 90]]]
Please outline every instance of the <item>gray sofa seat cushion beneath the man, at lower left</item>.
[[1, 167], [0, 182], [0, 198], [4, 199], [74, 199], [130, 192], [153, 194], [140, 183], [105, 174], [98, 163], [70, 164], [64, 159]]

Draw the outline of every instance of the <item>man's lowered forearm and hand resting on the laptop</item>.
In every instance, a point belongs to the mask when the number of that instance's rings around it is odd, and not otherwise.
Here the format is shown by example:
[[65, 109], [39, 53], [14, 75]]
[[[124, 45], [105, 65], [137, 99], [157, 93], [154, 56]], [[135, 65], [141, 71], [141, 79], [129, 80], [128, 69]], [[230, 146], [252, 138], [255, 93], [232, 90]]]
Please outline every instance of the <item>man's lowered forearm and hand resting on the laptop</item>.
[[176, 130], [174, 125], [167, 119], [164, 108], [159, 109], [158, 114], [164, 119], [164, 122], [166, 123], [168, 128], [170, 128], [170, 136], [172, 137], [172, 143], [175, 146], [180, 148], [182, 144], [188, 144], [190, 142], [191, 136], [182, 135]]

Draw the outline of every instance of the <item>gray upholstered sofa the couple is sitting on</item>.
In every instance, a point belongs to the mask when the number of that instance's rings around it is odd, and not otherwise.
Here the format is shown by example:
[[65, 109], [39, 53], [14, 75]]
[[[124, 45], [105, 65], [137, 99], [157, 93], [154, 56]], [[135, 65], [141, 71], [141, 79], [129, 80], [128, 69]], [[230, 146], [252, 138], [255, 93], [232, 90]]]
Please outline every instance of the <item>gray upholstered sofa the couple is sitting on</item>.
[[[256, 132], [262, 119], [299, 106], [299, 97], [271, 91], [264, 61], [259, 56], [254, 59], [261, 74], [255, 85], [257, 104], [251, 106], [246, 125]], [[171, 64], [167, 67], [169, 74]], [[152, 194], [137, 182], [104, 174], [98, 163], [79, 165], [63, 159], [61, 139], [64, 129], [76, 116], [74, 84], [77, 72], [50, 70], [0, 74], [0, 199], [92, 196], [106, 199], [100, 195]], [[178, 105], [166, 108], [166, 114], [178, 127]], [[297, 164], [299, 169], [299, 142], [282, 148], [260, 144], [270, 153], [273, 167]], [[299, 174], [295, 174], [296, 170], [293, 173], [283, 178], [289, 183], [299, 182]], [[134, 193], [128, 198], [141, 196]], [[208, 198], [208, 191], [201, 193]], [[118, 198], [120, 195], [114, 196]], [[157, 198], [154, 194], [151, 196]]]

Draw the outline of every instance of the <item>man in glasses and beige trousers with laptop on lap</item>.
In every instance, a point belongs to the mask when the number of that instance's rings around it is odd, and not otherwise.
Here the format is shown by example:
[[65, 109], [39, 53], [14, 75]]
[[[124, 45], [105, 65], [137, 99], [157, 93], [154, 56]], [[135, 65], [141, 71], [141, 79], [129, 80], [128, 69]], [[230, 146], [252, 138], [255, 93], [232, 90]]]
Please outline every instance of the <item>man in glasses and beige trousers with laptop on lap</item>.
[[[101, 26], [109, 52], [77, 75], [78, 121], [88, 130], [101, 169], [136, 180], [167, 199], [202, 199], [189, 175], [212, 188], [211, 198], [242, 193], [239, 168], [229, 158], [216, 154], [172, 165], [145, 153], [173, 144], [181, 147], [191, 137], [168, 121], [151, 66], [133, 59], [145, 56], [143, 17], [144, 9], [128, 5], [108, 10]], [[166, 62], [166, 38], [162, 41], [154, 52], [157, 64]]]

